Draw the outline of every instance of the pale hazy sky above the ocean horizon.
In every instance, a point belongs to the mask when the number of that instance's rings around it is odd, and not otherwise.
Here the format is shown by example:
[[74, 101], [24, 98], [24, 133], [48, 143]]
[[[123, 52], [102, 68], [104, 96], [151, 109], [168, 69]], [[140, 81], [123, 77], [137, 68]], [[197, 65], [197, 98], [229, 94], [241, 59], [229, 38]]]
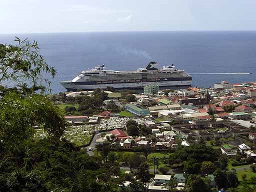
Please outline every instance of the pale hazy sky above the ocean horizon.
[[0, 33], [256, 30], [256, 0], [0, 0]]

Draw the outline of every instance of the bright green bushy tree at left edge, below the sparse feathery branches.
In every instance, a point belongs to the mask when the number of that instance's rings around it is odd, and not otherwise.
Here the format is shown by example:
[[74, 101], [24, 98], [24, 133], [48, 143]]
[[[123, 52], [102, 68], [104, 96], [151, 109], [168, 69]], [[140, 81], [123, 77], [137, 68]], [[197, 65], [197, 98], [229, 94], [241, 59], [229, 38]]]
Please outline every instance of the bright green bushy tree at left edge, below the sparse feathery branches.
[[48, 136], [59, 139], [66, 121], [62, 111], [43, 95], [20, 97], [8, 92], [0, 99], [0, 139], [4, 144], [18, 144], [33, 135], [34, 126], [41, 125]]

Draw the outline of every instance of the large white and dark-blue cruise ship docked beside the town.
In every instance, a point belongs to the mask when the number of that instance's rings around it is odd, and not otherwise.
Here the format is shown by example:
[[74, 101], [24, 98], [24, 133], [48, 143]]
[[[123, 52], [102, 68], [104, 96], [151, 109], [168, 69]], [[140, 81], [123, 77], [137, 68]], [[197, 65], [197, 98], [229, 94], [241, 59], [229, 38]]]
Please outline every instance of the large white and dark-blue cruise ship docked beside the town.
[[72, 80], [59, 82], [68, 91], [92, 90], [95, 88], [142, 88], [146, 85], [184, 86], [191, 85], [192, 77], [173, 64], [156, 68], [156, 62], [149, 62], [145, 68], [133, 71], [107, 70], [104, 65], [81, 71]]

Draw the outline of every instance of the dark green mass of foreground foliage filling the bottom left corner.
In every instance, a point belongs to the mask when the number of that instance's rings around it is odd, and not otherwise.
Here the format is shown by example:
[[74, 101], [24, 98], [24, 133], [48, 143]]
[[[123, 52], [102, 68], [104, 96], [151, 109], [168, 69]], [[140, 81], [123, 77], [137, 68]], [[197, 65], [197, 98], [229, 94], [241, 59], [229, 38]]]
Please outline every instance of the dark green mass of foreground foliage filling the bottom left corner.
[[25, 140], [0, 156], [0, 191], [116, 191], [118, 173], [66, 140]]

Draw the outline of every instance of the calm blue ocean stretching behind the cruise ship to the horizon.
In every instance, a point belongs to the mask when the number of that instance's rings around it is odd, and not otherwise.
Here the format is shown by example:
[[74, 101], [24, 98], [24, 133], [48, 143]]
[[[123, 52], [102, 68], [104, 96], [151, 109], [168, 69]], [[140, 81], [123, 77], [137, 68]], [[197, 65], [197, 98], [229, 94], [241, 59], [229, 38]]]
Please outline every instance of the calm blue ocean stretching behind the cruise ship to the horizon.
[[37, 40], [46, 62], [55, 66], [54, 93], [65, 91], [58, 81], [71, 80], [81, 70], [101, 64], [107, 69], [134, 70], [152, 60], [158, 67], [174, 64], [185, 69], [192, 75], [192, 86], [256, 81], [256, 31], [0, 34], [0, 43], [14, 44], [15, 35]]

